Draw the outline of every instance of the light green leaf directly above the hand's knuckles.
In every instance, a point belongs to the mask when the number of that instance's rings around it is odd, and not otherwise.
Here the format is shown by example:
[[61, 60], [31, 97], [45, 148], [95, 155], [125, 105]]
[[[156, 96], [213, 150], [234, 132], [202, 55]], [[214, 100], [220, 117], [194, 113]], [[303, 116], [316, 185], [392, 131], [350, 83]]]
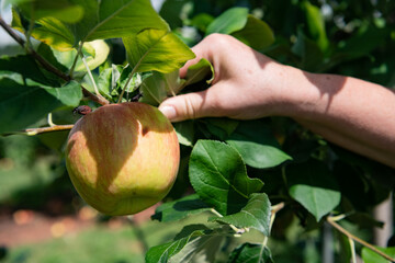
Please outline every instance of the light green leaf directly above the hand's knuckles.
[[218, 18], [216, 18], [208, 26], [206, 35], [213, 33], [232, 34], [241, 30], [247, 24], [248, 9], [232, 8]]

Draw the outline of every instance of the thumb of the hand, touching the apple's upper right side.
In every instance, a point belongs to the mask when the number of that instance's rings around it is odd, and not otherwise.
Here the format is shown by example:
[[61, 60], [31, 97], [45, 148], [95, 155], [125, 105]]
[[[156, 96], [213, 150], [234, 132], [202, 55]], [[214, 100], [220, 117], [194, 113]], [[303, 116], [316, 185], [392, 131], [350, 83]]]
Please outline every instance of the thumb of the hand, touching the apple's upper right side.
[[213, 103], [210, 101], [208, 90], [172, 96], [165, 100], [161, 111], [170, 122], [181, 122], [190, 118], [214, 116]]

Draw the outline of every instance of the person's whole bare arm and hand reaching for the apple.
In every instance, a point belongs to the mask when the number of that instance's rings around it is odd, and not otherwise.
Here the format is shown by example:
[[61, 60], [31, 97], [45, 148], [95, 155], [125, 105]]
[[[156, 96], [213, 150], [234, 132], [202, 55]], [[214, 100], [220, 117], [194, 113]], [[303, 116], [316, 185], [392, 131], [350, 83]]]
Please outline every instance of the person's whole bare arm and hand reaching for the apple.
[[205, 116], [294, 118], [312, 132], [395, 168], [395, 93], [351, 77], [309, 73], [281, 65], [227, 35], [192, 48], [215, 70], [205, 91], [170, 98], [159, 106], [172, 122]]

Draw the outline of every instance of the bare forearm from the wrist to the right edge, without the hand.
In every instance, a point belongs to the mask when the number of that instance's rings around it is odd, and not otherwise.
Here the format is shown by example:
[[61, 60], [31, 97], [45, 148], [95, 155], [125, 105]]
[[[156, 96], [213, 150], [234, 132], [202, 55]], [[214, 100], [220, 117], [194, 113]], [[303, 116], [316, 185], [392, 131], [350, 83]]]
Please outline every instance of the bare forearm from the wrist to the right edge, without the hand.
[[395, 167], [393, 91], [350, 77], [297, 69], [290, 75], [284, 115], [329, 141]]

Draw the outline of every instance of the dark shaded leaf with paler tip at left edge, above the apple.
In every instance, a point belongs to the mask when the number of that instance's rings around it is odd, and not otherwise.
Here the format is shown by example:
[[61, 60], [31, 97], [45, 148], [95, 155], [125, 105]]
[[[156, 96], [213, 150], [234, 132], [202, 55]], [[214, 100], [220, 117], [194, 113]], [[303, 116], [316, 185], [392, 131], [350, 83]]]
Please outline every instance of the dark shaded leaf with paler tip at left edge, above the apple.
[[63, 88], [21, 84], [15, 80], [0, 79], [0, 133], [26, 128], [63, 105], [78, 105], [81, 88], [70, 82]]

